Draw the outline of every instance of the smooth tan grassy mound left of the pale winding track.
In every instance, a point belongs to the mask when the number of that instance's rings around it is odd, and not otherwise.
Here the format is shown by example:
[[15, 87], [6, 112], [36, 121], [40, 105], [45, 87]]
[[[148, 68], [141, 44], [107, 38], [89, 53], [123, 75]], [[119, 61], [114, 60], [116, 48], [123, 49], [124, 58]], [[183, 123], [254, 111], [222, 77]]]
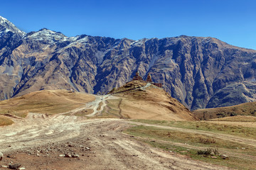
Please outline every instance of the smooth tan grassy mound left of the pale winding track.
[[23, 117], [25, 113], [64, 113], [94, 101], [89, 94], [70, 93], [65, 90], [43, 90], [0, 102], [0, 114]]

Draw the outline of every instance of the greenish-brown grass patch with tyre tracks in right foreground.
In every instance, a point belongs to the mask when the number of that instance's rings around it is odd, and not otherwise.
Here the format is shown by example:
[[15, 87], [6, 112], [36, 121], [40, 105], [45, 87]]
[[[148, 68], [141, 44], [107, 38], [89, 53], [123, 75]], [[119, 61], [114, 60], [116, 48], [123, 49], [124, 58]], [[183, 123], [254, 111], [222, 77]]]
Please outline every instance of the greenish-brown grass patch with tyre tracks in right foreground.
[[[154, 147], [185, 154], [192, 159], [235, 169], [256, 169], [256, 148], [248, 145], [205, 135], [145, 127], [143, 125], [129, 128], [125, 133], [133, 135], [135, 139], [142, 140]], [[230, 159], [224, 160], [220, 156], [217, 156], [217, 159], [212, 159], [210, 156], [198, 154], [198, 151], [208, 148], [218, 149], [220, 154], [228, 153]]]

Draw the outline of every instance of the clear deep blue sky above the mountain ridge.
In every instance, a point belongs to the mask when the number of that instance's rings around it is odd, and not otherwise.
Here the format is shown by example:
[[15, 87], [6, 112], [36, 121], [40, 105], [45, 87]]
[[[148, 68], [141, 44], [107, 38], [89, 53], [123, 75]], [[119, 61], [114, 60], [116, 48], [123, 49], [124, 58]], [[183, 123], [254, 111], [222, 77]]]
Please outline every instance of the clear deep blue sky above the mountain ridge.
[[3, 0], [0, 16], [25, 32], [48, 28], [67, 36], [213, 37], [256, 50], [255, 0]]

